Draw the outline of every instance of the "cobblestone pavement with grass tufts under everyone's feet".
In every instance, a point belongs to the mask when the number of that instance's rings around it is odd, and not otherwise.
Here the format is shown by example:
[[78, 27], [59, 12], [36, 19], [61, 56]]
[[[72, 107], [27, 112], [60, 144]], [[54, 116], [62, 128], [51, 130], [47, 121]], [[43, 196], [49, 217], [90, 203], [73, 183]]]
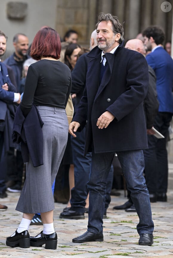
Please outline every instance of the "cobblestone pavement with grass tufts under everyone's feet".
[[[152, 217], [155, 223], [154, 244], [139, 246], [136, 225], [138, 216], [135, 212], [115, 211], [113, 206], [127, 201], [121, 190], [121, 196], [112, 196], [104, 219], [104, 242], [72, 243], [72, 238], [83, 234], [87, 229], [88, 215], [84, 220], [59, 219], [65, 204], [55, 203], [54, 226], [58, 235], [56, 250], [43, 247], [10, 248], [6, 237], [10, 236], [21, 221], [21, 213], [15, 211], [18, 193], [8, 193], [0, 199], [8, 206], [0, 212], [0, 257], [42, 258], [42, 257], [79, 257], [79, 258], [116, 258], [116, 257], [159, 257], [173, 258], [173, 190], [168, 192], [167, 202], [152, 203]], [[36, 235], [42, 226], [30, 226], [30, 235]]]

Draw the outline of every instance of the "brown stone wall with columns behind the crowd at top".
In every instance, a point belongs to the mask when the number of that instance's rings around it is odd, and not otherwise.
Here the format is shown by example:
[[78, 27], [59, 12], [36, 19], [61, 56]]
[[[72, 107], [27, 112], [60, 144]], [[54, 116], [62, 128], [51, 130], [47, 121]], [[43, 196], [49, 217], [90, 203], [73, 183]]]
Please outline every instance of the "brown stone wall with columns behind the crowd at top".
[[[169, 1], [172, 4], [173, 0]], [[124, 26], [124, 38], [136, 37], [149, 25], [163, 27], [171, 40], [172, 10], [163, 12], [163, 0], [57, 0], [56, 28], [61, 37], [68, 29], [79, 33], [79, 43], [87, 45], [100, 12], [118, 16]]]

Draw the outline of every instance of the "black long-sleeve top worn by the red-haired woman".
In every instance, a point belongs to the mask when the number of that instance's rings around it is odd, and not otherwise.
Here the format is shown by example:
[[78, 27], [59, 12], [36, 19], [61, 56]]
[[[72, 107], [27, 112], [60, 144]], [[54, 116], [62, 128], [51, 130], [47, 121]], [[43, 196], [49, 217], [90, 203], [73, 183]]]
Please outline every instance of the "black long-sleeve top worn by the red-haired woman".
[[71, 86], [71, 71], [64, 63], [42, 59], [30, 65], [21, 101], [24, 116], [32, 104], [66, 108]]

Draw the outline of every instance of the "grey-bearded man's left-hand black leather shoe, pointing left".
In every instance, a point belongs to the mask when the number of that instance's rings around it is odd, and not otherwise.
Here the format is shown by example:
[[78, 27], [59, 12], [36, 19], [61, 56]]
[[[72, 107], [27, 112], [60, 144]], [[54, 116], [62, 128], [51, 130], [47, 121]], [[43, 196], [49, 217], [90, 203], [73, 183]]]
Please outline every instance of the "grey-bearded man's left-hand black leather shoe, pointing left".
[[90, 231], [86, 231], [83, 235], [80, 237], [75, 237], [72, 239], [73, 243], [84, 243], [84, 242], [92, 242], [92, 241], [103, 241], [103, 233], [101, 234], [95, 234]]

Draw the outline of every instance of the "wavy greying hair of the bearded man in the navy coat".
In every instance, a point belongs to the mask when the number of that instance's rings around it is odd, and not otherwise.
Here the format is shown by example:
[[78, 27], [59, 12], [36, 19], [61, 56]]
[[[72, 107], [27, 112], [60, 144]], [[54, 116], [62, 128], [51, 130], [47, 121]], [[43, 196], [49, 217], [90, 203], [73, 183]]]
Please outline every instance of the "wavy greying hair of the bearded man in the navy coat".
[[106, 21], [106, 23], [108, 23], [108, 21], [112, 22], [112, 30], [113, 30], [114, 34], [120, 33], [120, 35], [121, 35], [120, 39], [118, 40], [118, 43], [122, 43], [122, 41], [124, 39], [123, 38], [123, 36], [124, 36], [124, 29], [123, 29], [123, 26], [121, 25], [121, 23], [119, 22], [118, 17], [117, 16], [113, 16], [110, 13], [105, 14], [105, 13], [101, 12], [98, 15], [98, 22], [95, 25], [96, 29], [98, 27], [98, 24], [101, 21]]

